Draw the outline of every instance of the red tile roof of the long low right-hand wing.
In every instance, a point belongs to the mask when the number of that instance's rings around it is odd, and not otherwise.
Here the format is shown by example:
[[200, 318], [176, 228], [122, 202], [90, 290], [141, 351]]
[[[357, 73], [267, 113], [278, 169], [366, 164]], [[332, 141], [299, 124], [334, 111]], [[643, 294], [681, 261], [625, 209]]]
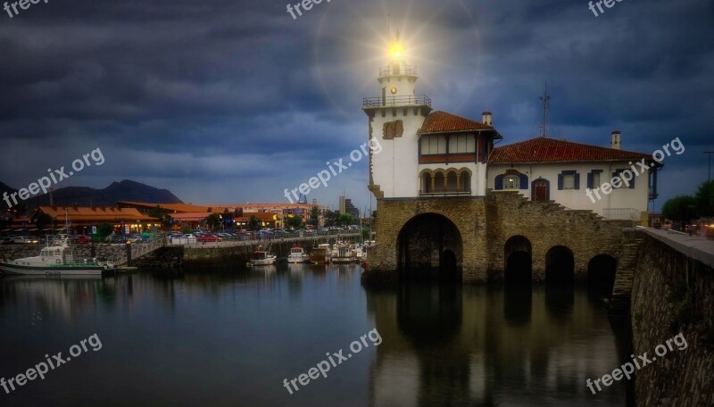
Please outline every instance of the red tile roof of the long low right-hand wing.
[[652, 161], [652, 155], [598, 145], [535, 137], [530, 140], [494, 148], [491, 164], [516, 162], [583, 162], [583, 161]]

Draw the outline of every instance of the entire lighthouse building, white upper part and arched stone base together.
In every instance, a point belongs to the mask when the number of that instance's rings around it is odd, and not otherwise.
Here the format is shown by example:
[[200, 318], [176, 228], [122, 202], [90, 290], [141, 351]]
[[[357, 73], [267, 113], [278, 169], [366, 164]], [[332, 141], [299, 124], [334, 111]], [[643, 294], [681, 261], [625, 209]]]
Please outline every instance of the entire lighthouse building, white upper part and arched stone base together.
[[[365, 278], [614, 278], [623, 228], [646, 225], [657, 195], [652, 156], [621, 150], [619, 132], [610, 148], [550, 137], [495, 146], [504, 137], [491, 112], [433, 111], [417, 79], [397, 36], [380, 96], [362, 103], [368, 139], [382, 146], [369, 154], [378, 245]], [[603, 192], [641, 161], [651, 168]], [[598, 187], [599, 198], [588, 190]]]

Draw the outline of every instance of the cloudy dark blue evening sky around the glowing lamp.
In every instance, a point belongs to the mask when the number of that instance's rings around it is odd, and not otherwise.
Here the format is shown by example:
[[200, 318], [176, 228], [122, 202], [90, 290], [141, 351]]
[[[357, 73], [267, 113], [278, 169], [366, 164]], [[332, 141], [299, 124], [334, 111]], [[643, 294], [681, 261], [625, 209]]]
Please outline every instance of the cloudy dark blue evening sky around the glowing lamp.
[[[295, 3], [293, 7], [295, 8]], [[133, 179], [186, 203], [287, 202], [367, 141], [388, 37], [401, 33], [435, 110], [493, 112], [502, 145], [547, 134], [665, 160], [659, 208], [693, 194], [714, 150], [714, 3], [624, 0], [49, 0], [0, 10], [0, 181], [27, 187], [100, 149], [56, 187]], [[12, 14], [12, 18], [10, 17]], [[389, 17], [387, 17], [389, 16]], [[94, 162], [90, 158], [85, 162]], [[68, 171], [69, 172], [69, 171]], [[308, 195], [369, 209], [367, 160]]]

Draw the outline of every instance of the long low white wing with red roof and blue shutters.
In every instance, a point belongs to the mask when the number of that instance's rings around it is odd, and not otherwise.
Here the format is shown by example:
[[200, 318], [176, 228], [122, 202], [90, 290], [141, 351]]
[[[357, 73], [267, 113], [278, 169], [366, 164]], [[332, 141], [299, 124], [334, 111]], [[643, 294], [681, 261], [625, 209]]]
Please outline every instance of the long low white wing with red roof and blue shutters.
[[[488, 160], [488, 187], [518, 190], [530, 200], [552, 200], [608, 219], [642, 219], [657, 195], [661, 166], [651, 155], [620, 150], [619, 131], [612, 133], [612, 145], [535, 137], [496, 147]], [[612, 182], [616, 177], [625, 181]], [[606, 183], [613, 187], [603, 187]]]

